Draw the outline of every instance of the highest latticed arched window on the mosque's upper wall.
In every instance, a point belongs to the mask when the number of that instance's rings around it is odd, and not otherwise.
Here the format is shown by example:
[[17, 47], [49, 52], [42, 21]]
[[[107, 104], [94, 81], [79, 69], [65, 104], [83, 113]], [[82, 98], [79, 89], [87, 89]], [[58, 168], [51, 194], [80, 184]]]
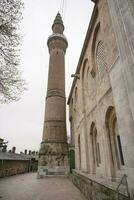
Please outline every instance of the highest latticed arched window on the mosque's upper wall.
[[107, 67], [103, 41], [100, 41], [96, 48], [96, 63], [98, 67], [99, 78], [102, 80]]

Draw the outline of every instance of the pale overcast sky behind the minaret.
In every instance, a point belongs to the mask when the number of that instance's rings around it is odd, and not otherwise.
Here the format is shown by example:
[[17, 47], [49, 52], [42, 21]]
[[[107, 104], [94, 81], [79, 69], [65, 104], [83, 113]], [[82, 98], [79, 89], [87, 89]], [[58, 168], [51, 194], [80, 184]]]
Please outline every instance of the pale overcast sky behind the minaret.
[[[42, 139], [49, 61], [47, 38], [52, 33], [51, 26], [60, 10], [60, 2], [24, 0], [21, 68], [28, 90], [20, 101], [0, 106], [0, 137], [9, 142], [8, 149], [16, 146], [17, 152], [38, 150]], [[65, 0], [65, 5], [64, 34], [69, 43], [66, 53], [68, 98], [71, 74], [77, 67], [94, 4], [91, 0]]]

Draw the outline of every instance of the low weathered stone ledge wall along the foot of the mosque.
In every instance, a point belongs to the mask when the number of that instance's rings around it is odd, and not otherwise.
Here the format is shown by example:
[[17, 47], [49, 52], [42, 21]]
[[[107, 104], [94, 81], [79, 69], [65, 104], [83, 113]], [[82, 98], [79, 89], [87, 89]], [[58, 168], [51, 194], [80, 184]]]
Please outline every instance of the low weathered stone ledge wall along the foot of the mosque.
[[129, 200], [127, 196], [91, 180], [76, 170], [73, 170], [70, 177], [74, 185], [79, 188], [88, 200]]

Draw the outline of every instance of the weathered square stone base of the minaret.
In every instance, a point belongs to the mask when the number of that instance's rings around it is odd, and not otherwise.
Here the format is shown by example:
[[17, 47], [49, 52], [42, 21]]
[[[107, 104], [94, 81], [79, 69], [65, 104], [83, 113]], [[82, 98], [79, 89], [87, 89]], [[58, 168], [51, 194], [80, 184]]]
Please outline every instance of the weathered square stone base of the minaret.
[[68, 174], [68, 144], [54, 141], [42, 142], [37, 177], [68, 176]]

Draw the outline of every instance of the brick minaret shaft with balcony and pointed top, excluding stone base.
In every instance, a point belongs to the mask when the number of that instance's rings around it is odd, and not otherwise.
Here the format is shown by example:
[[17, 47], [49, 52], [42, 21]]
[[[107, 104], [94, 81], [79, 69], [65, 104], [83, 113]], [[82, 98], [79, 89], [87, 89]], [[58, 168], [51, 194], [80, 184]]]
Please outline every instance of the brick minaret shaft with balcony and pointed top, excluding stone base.
[[65, 142], [65, 51], [67, 40], [63, 35], [64, 25], [59, 13], [54, 20], [52, 29], [53, 34], [47, 42], [50, 59], [43, 140]]

